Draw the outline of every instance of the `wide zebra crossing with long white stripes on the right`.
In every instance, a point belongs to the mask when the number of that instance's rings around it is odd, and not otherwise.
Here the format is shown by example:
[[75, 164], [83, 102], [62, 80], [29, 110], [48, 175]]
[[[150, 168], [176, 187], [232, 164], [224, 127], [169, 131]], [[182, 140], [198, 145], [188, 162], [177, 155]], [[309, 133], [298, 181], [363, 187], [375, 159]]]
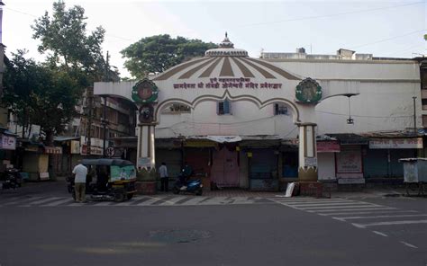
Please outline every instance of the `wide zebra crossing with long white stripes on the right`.
[[320, 216], [332, 217], [342, 222], [348, 222], [352, 226], [358, 228], [427, 224], [426, 213], [359, 200], [340, 198], [276, 198], [272, 200], [289, 208], [303, 210]]

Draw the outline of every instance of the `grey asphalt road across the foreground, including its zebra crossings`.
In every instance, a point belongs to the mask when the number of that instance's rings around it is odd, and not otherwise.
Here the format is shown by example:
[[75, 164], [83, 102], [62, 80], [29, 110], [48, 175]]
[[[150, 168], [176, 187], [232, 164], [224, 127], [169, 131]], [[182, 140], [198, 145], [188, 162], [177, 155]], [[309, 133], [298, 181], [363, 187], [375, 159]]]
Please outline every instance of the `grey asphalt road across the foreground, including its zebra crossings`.
[[0, 195], [1, 266], [427, 265], [425, 198], [61, 195]]

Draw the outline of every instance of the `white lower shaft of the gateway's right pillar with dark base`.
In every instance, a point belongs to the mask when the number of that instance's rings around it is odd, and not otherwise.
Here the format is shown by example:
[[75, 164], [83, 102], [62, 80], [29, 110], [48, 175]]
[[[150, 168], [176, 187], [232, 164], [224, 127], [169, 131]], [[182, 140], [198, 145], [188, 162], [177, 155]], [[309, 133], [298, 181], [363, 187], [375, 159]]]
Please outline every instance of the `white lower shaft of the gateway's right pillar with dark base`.
[[298, 181], [317, 182], [317, 150], [314, 123], [302, 123], [299, 127]]

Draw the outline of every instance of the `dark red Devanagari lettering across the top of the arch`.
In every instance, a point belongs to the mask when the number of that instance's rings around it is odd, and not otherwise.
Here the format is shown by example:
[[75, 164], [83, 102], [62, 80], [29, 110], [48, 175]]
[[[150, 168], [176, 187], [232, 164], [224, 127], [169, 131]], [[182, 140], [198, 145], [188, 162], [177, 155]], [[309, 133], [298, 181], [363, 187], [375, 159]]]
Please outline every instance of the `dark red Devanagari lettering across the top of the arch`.
[[197, 84], [173, 84], [174, 89], [281, 89], [282, 84], [278, 83], [253, 83], [250, 78], [216, 78], [213, 77], [209, 82]]

